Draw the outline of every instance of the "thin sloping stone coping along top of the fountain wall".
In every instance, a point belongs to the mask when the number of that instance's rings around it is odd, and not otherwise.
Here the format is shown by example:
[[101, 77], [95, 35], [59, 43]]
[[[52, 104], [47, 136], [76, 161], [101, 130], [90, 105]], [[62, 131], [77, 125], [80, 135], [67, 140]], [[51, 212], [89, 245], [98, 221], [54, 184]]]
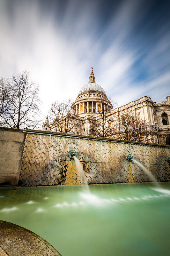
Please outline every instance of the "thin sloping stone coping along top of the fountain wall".
[[47, 134], [47, 135], [58, 135], [58, 136], [84, 138], [84, 139], [91, 139], [91, 140], [107, 140], [107, 141], [113, 141], [113, 142], [122, 142], [122, 143], [140, 144], [140, 145], [149, 145], [149, 146], [158, 146], [158, 147], [170, 148], [169, 145], [137, 142], [137, 141], [130, 141], [130, 140], [116, 140], [116, 139], [109, 139], [109, 138], [102, 138], [102, 137], [92, 137], [92, 136], [78, 135], [78, 134], [73, 134], [73, 133], [49, 132], [49, 131], [34, 130], [34, 129], [16, 129], [16, 128], [8, 128], [8, 127], [0, 127], [0, 130], [14, 131], [14, 132], [19, 131], [19, 132], [28, 132], [28, 133], [29, 132], [30, 133], [40, 133], [40, 134]]

